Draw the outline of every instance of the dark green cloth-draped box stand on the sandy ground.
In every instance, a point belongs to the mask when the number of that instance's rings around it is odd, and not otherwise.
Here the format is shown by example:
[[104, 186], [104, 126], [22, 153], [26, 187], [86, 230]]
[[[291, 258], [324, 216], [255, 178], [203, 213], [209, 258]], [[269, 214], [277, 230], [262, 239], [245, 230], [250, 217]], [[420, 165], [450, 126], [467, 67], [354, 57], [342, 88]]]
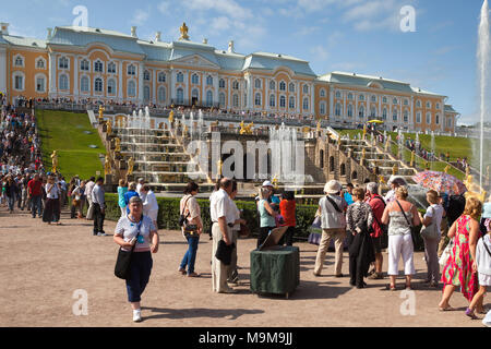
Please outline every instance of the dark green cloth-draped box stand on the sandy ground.
[[300, 250], [284, 246], [251, 252], [251, 291], [253, 293], [285, 294], [300, 284]]

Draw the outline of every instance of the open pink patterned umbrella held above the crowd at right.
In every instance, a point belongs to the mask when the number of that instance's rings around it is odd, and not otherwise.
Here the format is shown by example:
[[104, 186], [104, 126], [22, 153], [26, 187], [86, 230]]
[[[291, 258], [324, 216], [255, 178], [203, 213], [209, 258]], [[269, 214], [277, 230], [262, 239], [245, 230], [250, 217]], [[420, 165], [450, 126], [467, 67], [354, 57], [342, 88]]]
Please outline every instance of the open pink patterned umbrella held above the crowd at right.
[[439, 171], [422, 171], [412, 177], [419, 185], [439, 193], [460, 195], [467, 191], [466, 185], [452, 174]]

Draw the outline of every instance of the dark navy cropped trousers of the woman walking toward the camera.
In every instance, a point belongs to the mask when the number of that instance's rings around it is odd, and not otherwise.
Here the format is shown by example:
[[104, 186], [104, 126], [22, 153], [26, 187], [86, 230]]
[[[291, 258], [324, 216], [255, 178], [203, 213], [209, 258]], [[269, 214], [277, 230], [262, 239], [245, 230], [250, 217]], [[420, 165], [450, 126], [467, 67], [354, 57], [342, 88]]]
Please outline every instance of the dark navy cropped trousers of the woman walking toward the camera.
[[140, 302], [148, 284], [154, 261], [147, 252], [133, 252], [130, 264], [130, 278], [127, 280], [128, 301]]

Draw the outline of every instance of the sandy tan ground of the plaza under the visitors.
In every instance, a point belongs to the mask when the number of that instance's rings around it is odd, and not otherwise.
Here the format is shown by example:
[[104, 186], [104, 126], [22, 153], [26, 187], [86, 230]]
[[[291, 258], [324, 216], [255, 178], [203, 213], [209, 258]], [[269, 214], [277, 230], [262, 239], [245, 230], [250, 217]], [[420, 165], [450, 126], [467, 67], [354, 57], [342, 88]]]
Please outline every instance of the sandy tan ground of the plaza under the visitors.
[[[239, 293], [213, 293], [208, 237], [202, 238], [197, 251], [196, 272], [203, 277], [187, 278], [177, 273], [187, 249], [177, 231], [159, 231], [160, 250], [143, 296], [144, 321], [134, 324], [124, 281], [112, 274], [117, 254], [112, 237], [93, 237], [88, 221], [68, 219], [65, 213], [62, 222], [48, 226], [0, 207], [0, 326], [482, 326], [465, 316], [460, 293], [451, 302], [458, 311], [439, 312], [441, 291], [422, 284], [421, 253], [416, 255], [416, 314], [405, 316], [400, 306], [407, 299], [402, 290], [385, 290], [387, 279], [369, 280], [369, 288], [358, 290], [348, 278], [333, 277], [333, 253], [327, 254], [322, 277], [315, 278], [316, 246], [308, 243], [298, 243], [300, 286], [290, 299], [260, 298], [249, 291], [253, 239], [239, 240]], [[108, 221], [106, 231], [112, 232], [115, 226]], [[348, 274], [347, 254], [343, 272]], [[403, 282], [400, 278], [400, 287]], [[85, 316], [73, 314], [77, 289], [88, 296]]]

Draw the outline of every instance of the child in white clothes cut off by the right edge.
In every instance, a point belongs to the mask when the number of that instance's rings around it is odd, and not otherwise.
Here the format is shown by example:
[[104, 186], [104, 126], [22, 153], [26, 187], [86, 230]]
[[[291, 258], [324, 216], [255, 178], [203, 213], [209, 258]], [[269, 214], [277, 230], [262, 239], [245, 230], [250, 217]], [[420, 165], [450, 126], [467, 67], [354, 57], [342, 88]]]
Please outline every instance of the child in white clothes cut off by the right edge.
[[488, 232], [479, 239], [476, 246], [476, 261], [472, 268], [478, 273], [479, 291], [474, 296], [466, 315], [470, 318], [478, 318], [474, 313], [476, 306], [480, 304], [482, 311], [482, 299], [486, 293], [487, 286], [491, 286], [491, 224], [488, 220], [486, 226]]

